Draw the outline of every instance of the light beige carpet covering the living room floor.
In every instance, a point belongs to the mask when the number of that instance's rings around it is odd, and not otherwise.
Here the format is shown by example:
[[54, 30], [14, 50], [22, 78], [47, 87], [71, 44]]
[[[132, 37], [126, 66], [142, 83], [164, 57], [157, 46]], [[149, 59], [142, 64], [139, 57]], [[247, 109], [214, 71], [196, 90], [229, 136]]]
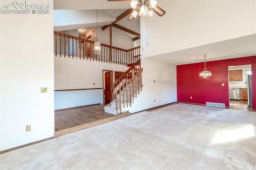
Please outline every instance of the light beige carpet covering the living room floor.
[[256, 112], [177, 104], [0, 155], [0, 169], [256, 169]]

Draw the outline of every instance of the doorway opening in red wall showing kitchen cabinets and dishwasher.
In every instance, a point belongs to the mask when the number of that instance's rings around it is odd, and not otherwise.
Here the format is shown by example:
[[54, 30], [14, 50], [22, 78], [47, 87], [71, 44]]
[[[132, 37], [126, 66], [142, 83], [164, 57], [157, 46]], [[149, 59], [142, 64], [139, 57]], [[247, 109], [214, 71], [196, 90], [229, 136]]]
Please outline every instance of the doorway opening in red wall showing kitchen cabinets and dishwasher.
[[247, 82], [248, 75], [251, 74], [250, 64], [228, 66], [230, 109], [252, 111], [252, 107], [248, 107], [251, 102], [251, 91]]

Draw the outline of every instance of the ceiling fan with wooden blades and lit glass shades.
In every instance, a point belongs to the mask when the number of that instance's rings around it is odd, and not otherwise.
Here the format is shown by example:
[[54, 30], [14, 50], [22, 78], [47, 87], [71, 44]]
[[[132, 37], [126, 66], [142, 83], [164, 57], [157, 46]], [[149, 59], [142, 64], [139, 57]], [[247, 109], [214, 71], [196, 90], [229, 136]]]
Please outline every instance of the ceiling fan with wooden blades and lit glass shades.
[[163, 16], [166, 12], [157, 5], [157, 0], [108, 0], [108, 1], [130, 1], [130, 6], [133, 8], [128, 20], [148, 16], [148, 18], [155, 15]]

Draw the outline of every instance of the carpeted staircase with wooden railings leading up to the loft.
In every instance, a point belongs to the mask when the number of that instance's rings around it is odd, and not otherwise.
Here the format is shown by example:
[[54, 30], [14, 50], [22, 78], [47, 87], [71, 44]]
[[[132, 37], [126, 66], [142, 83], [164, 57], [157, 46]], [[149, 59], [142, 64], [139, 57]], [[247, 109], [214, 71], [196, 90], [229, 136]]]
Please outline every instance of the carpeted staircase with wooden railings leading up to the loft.
[[[142, 71], [139, 60], [115, 81], [111, 88], [113, 89], [114, 100], [104, 107], [106, 113], [118, 115], [128, 111], [128, 107], [131, 107], [134, 102], [134, 97], [137, 97], [142, 91]], [[125, 79], [129, 77], [127, 75], [134, 76], [130, 79]]]

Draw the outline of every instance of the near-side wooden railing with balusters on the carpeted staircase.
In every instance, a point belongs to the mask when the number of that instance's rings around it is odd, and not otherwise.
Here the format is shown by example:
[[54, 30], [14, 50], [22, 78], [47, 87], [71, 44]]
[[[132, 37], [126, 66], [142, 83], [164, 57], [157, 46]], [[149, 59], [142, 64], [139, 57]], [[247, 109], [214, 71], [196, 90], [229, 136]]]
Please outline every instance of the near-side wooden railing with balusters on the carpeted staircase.
[[[131, 106], [132, 100], [134, 101], [134, 96], [137, 97], [137, 94], [139, 95], [140, 91], [142, 91], [142, 77], [141, 77], [142, 71], [143, 69], [138, 70], [138, 72], [131, 79], [122, 79], [122, 81], [114, 89], [114, 95], [116, 99], [116, 113], [118, 113], [118, 104], [119, 104], [120, 115], [121, 115], [122, 103], [123, 103], [123, 108], [125, 107], [125, 104], [126, 104], [126, 107], [128, 107], [130, 103], [130, 106]], [[119, 100], [119, 103], [118, 103], [118, 100]]]

